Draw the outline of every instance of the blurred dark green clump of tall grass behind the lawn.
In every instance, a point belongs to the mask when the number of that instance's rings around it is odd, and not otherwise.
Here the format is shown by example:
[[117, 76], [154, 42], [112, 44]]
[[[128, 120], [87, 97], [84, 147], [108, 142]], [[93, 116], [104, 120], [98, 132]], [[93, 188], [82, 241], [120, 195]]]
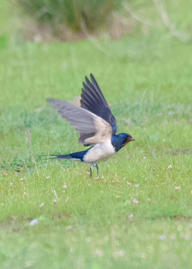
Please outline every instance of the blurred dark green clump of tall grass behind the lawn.
[[120, 0], [17, 0], [23, 12], [39, 23], [50, 23], [57, 28], [65, 24], [75, 32], [82, 31], [82, 24], [89, 31], [104, 24]]

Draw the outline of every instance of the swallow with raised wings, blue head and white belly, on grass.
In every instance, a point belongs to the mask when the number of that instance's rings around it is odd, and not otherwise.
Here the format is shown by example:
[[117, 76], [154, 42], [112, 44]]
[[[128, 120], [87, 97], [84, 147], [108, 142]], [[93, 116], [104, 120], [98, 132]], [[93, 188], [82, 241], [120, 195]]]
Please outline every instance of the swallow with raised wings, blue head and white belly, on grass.
[[98, 161], [108, 159], [135, 139], [128, 133], [116, 134], [115, 117], [95, 78], [90, 74], [90, 80], [85, 76], [85, 82], [82, 83], [80, 102], [76, 100], [73, 103], [60, 99], [47, 99], [47, 101], [79, 132], [78, 143], [90, 147], [74, 153], [49, 156], [52, 156], [51, 159], [87, 162], [90, 164], [91, 177], [93, 167], [96, 167], [99, 174]]

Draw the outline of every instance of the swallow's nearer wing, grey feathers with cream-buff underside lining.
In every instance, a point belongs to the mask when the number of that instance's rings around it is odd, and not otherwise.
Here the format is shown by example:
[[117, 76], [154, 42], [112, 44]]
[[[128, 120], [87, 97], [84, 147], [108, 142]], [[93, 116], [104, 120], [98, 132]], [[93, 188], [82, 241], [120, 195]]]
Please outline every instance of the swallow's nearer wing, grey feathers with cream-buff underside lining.
[[79, 144], [93, 145], [111, 139], [111, 125], [92, 112], [67, 101], [47, 99], [59, 114], [79, 132]]

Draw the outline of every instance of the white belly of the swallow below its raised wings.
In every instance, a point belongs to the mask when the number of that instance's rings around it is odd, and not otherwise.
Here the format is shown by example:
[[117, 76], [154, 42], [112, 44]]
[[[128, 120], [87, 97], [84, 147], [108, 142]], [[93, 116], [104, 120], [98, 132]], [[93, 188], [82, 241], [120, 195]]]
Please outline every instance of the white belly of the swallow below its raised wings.
[[111, 139], [93, 146], [84, 156], [84, 162], [97, 162], [104, 160], [115, 153]]

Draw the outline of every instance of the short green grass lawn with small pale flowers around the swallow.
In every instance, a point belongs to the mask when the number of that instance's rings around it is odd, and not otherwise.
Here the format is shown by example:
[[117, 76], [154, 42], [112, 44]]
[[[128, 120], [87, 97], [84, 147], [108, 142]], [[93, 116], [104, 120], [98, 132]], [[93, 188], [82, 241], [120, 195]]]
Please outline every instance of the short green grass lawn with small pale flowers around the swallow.
[[[3, 38], [1, 268], [191, 268], [190, 41], [164, 29], [102, 50]], [[136, 138], [92, 179], [86, 164], [40, 157], [84, 149], [45, 99], [72, 100], [90, 72]]]

